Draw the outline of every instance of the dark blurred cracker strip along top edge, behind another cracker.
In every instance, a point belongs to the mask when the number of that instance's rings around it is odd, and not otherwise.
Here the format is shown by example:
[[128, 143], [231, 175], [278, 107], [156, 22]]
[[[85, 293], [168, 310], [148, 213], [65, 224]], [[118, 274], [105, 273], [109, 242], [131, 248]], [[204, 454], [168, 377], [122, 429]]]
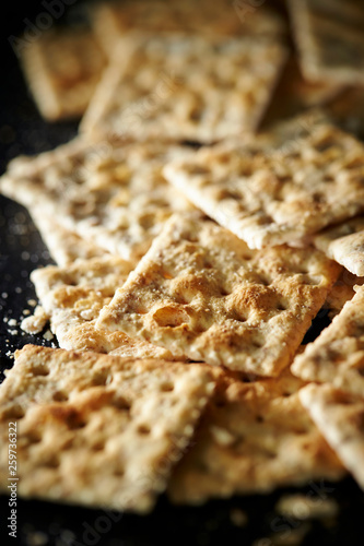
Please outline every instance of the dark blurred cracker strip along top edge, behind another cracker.
[[285, 31], [277, 13], [260, 5], [232, 3], [231, 0], [103, 2], [93, 9], [92, 19], [99, 41], [109, 56], [118, 40], [130, 31], [209, 37], [275, 37]]

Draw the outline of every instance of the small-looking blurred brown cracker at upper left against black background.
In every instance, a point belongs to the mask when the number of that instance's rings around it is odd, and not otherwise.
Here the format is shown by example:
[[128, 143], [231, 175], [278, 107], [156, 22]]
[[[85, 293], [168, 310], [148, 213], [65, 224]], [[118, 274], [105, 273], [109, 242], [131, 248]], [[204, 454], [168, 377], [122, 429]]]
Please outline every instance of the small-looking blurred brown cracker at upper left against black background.
[[81, 117], [106, 63], [93, 33], [80, 28], [43, 33], [20, 52], [42, 116], [51, 121]]

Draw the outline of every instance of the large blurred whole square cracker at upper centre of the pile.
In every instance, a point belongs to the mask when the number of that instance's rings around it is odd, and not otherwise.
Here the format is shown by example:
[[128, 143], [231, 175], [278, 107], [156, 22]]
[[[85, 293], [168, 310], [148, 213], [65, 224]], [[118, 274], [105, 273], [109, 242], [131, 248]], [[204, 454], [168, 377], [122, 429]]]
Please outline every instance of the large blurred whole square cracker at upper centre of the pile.
[[285, 58], [269, 39], [127, 35], [81, 131], [200, 142], [254, 131]]

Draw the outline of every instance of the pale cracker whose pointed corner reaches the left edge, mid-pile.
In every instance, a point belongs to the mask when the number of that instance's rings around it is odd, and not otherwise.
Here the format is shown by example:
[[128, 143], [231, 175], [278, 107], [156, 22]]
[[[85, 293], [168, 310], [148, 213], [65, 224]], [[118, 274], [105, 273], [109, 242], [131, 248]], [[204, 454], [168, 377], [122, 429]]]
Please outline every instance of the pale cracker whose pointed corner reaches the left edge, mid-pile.
[[99, 248], [140, 258], [165, 218], [193, 209], [162, 176], [167, 161], [189, 153], [163, 141], [75, 139], [11, 162], [0, 191]]

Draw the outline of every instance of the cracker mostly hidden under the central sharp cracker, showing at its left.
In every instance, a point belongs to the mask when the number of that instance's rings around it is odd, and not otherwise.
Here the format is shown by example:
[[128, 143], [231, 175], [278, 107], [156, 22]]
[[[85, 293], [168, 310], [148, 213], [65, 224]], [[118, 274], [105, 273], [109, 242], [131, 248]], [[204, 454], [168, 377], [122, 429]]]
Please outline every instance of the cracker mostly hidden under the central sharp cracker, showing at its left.
[[173, 359], [169, 351], [122, 332], [96, 329], [101, 309], [125, 283], [133, 264], [118, 257], [78, 260], [66, 268], [48, 265], [32, 273], [42, 306], [50, 317], [59, 346], [129, 358]]

